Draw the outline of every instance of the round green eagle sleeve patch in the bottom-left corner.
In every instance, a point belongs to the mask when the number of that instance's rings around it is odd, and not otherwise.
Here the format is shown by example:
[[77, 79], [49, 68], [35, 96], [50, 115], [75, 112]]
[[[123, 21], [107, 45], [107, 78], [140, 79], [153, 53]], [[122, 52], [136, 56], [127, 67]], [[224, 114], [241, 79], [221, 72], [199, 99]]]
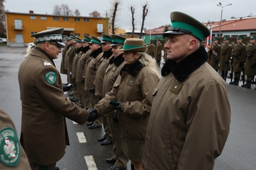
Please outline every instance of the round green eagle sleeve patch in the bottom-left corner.
[[19, 160], [19, 139], [14, 129], [6, 127], [0, 131], [0, 162], [6, 166], [17, 166]]

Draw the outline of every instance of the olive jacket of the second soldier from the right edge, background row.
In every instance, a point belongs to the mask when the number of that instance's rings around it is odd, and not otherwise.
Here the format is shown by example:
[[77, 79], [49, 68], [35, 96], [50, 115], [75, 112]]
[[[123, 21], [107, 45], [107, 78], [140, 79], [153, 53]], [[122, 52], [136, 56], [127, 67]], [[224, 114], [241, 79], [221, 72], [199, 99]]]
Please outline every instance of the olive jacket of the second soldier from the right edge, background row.
[[245, 51], [246, 51], [245, 45], [243, 43], [239, 43], [234, 46], [234, 52], [233, 52], [233, 71], [234, 72], [243, 71], [243, 66], [240, 66], [240, 63], [244, 61]]

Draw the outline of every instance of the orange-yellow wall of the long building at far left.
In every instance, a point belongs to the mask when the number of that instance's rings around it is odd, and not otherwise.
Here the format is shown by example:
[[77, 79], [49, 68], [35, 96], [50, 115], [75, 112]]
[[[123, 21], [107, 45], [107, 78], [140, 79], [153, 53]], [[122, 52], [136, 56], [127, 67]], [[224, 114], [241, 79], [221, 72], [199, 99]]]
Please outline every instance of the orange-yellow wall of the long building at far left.
[[[36, 16], [36, 19], [31, 19], [31, 15]], [[41, 17], [46, 17], [47, 20], [41, 20]], [[59, 20], [53, 20], [53, 17], [59, 17]], [[106, 30], [108, 28], [106, 18], [67, 18], [68, 21], [63, 21], [63, 16], [6, 12], [6, 32], [8, 41], [15, 39], [15, 34], [23, 34], [24, 43], [31, 43], [34, 39], [31, 38], [31, 32], [40, 32], [47, 29], [47, 27], [74, 28], [74, 31], [64, 31], [63, 34], [69, 36], [70, 32], [72, 32], [74, 34], [80, 34], [80, 38], [84, 38], [83, 34], [97, 37], [102, 36], [102, 33], [108, 32], [108, 30]], [[75, 18], [80, 18], [80, 21], [75, 21]], [[84, 18], [88, 18], [89, 22], [84, 22]], [[13, 29], [15, 19], [22, 20], [23, 30]], [[103, 32], [97, 33], [97, 24], [103, 24]]]

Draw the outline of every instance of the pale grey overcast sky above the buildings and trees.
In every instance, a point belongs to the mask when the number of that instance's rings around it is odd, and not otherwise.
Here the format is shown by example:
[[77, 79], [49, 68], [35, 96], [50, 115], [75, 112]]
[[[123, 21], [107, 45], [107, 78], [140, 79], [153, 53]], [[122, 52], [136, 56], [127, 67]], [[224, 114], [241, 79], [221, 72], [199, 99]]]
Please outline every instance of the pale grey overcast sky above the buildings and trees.
[[[110, 0], [111, 1], [111, 0]], [[70, 10], [78, 9], [81, 16], [88, 17], [92, 11], [99, 11], [102, 17], [105, 17], [106, 11], [110, 9], [109, 0], [5, 0], [4, 6], [6, 10], [11, 12], [28, 13], [33, 10], [38, 14], [52, 14], [54, 5], [68, 4]], [[130, 6], [135, 7], [135, 27], [140, 29], [142, 5], [145, 0], [120, 0], [122, 3], [122, 11], [118, 13], [117, 26], [122, 29], [130, 29], [131, 26], [131, 11]], [[170, 13], [172, 11], [181, 11], [191, 15], [200, 22], [219, 21], [221, 17], [221, 7], [217, 6], [219, 2], [223, 6], [232, 3], [231, 6], [223, 8], [222, 19], [231, 17], [247, 17], [252, 13], [256, 15], [255, 0], [147, 0], [148, 15], [145, 20], [144, 27], [154, 29], [161, 25], [170, 24]]]

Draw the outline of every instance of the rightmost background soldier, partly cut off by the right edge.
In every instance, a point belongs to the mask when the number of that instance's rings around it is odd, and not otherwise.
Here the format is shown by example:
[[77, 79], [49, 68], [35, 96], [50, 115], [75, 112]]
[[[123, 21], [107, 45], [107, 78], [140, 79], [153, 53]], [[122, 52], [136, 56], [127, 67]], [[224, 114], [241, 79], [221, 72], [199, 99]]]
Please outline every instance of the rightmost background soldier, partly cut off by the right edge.
[[256, 36], [252, 36], [250, 38], [250, 45], [246, 46], [245, 52], [245, 68], [244, 75], [247, 76], [247, 81], [241, 87], [246, 87], [247, 89], [251, 89], [252, 80], [255, 74], [255, 64], [256, 64]]

